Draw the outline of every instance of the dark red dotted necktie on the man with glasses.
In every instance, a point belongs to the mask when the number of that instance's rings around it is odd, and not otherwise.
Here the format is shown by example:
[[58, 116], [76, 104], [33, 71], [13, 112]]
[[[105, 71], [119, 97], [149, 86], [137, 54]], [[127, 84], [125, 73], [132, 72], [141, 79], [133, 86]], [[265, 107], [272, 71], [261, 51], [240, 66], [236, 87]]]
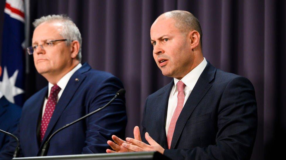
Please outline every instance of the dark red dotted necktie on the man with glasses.
[[58, 85], [54, 85], [51, 89], [50, 96], [48, 98], [46, 108], [44, 115], [42, 117], [42, 122], [41, 122], [41, 142], [45, 136], [47, 127], [50, 123], [51, 117], [53, 115], [53, 112], [55, 110], [55, 106], [57, 104], [57, 99], [58, 99], [58, 94], [61, 88]]

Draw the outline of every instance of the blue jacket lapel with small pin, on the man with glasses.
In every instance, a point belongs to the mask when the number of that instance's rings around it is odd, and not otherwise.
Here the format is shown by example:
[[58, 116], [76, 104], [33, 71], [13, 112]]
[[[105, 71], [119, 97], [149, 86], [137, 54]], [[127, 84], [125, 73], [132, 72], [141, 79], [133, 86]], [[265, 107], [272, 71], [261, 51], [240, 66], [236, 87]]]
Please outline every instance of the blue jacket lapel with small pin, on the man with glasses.
[[[50, 133], [54, 126], [59, 119], [59, 117], [62, 115], [62, 112], [69, 104], [69, 101], [74, 96], [74, 93], [79, 88], [81, 83], [86, 78], [85, 75], [82, 73], [88, 71], [91, 67], [88, 64], [84, 64], [81, 68], [79, 68], [69, 79], [69, 82], [67, 83], [67, 86], [64, 89], [64, 92], [62, 93], [62, 96], [60, 97], [58, 103], [56, 104], [55, 111], [52, 115], [52, 118], [50, 120], [50, 123], [48, 125], [48, 128], [46, 130], [45, 136], [42, 140], [40, 148], [42, 148], [43, 143], [47, 140], [47, 137], [50, 136], [52, 133]], [[76, 80], [77, 78], [77, 80]]]

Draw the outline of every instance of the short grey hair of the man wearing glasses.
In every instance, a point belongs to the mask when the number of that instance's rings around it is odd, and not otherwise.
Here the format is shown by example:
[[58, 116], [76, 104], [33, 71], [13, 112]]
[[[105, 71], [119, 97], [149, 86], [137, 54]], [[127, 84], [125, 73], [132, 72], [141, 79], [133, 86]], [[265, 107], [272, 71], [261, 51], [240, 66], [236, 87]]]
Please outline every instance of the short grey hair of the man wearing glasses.
[[60, 35], [65, 38], [69, 39], [70, 41], [66, 41], [67, 45], [71, 44], [71, 41], [79, 41], [79, 53], [76, 56], [76, 59], [81, 62], [81, 33], [79, 29], [76, 27], [76, 24], [66, 15], [47, 15], [42, 16], [39, 19], [36, 19], [33, 22], [33, 26], [36, 28], [43, 22], [61, 22], [63, 24], [63, 29]]

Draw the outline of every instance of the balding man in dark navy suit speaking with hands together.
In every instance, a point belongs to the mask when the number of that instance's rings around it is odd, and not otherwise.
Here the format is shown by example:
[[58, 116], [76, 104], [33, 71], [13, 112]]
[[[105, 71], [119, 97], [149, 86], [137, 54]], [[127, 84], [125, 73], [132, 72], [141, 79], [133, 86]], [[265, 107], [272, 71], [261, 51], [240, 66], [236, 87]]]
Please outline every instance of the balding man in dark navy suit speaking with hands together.
[[160, 15], [151, 26], [153, 57], [173, 77], [147, 97], [142, 133], [108, 144], [106, 152], [158, 151], [171, 159], [250, 159], [257, 131], [251, 82], [210, 64], [202, 54], [202, 31], [187, 11]]

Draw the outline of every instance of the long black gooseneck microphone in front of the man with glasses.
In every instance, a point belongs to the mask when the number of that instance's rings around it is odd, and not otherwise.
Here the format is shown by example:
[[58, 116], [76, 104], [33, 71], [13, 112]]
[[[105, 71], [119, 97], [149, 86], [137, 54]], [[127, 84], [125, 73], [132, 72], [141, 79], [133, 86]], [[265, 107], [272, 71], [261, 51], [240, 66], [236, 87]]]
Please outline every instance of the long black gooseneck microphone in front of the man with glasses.
[[60, 129], [58, 129], [57, 131], [55, 131], [55, 132], [48, 138], [48, 140], [45, 142], [45, 144], [43, 145], [42, 152], [41, 152], [40, 156], [47, 156], [47, 153], [48, 153], [48, 150], [49, 150], [49, 147], [50, 147], [50, 140], [51, 140], [51, 138], [52, 138], [56, 133], [58, 133], [59, 131], [65, 129], [65, 128], [67, 128], [68, 126], [71, 126], [72, 124], [75, 124], [76, 122], [81, 121], [82, 119], [85, 119], [86, 117], [89, 117], [90, 115], [92, 115], [92, 114], [94, 114], [94, 113], [96, 113], [96, 112], [102, 110], [103, 108], [109, 106], [110, 103], [113, 102], [114, 99], [116, 99], [116, 97], [124, 95], [125, 92], [126, 92], [125, 89], [123, 89], [123, 88], [122, 88], [122, 89], [119, 89], [119, 90], [116, 92], [115, 96], [114, 96], [106, 105], [104, 105], [103, 107], [98, 108], [97, 110], [95, 110], [95, 111], [93, 111], [93, 112], [90, 112], [90, 113], [88, 113], [87, 115], [85, 115], [85, 116], [83, 116], [83, 117], [81, 117], [81, 118], [79, 118], [79, 119], [76, 119], [74, 122], [71, 122], [71, 123], [69, 123], [69, 124], [66, 124], [66, 125], [63, 126], [62, 128], [60, 128]]

